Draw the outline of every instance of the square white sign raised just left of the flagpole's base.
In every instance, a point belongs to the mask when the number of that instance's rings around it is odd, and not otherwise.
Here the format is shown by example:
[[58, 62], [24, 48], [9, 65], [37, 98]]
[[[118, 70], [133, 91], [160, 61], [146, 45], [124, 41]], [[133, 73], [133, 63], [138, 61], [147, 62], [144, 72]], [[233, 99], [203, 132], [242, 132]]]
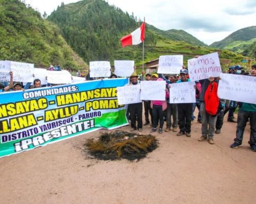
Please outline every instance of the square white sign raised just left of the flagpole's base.
[[115, 60], [115, 74], [118, 77], [130, 77], [134, 72], [134, 61], [132, 60]]

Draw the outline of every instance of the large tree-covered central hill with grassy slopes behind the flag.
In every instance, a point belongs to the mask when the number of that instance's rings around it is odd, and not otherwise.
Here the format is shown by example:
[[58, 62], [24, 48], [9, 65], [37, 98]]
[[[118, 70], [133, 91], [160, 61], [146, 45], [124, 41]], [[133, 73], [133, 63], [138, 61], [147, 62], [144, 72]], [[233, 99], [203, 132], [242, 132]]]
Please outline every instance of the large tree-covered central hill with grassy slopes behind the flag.
[[[47, 20], [59, 26], [63, 38], [87, 63], [107, 60], [113, 64], [114, 60], [134, 60], [137, 66], [142, 65], [142, 44], [122, 48], [119, 41], [137, 29], [141, 21], [118, 7], [102, 0], [84, 0], [67, 5], [62, 3]], [[186, 60], [194, 55], [212, 52], [220, 53], [225, 66], [238, 63], [243, 58], [228, 50], [205, 47], [185, 31], [161, 31], [146, 24], [145, 62], [161, 55], [182, 54], [187, 63]]]

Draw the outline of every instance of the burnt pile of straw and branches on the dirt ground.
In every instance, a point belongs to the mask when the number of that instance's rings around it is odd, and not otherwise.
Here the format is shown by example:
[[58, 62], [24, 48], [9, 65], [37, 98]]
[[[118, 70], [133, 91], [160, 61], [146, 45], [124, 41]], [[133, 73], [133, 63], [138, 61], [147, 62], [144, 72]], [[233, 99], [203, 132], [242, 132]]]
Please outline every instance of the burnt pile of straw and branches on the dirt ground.
[[157, 143], [156, 138], [152, 135], [136, 135], [130, 132], [115, 131], [101, 133], [97, 141], [89, 139], [85, 146], [90, 155], [98, 159], [140, 160], [146, 157], [148, 152], [156, 149]]

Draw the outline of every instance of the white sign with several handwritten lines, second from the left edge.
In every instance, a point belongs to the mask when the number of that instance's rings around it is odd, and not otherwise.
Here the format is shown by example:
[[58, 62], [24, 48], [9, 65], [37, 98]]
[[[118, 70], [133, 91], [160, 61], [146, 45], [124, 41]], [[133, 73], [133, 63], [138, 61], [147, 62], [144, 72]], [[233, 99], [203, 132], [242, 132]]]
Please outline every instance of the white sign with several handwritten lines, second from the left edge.
[[13, 81], [30, 82], [33, 81], [34, 64], [5, 61], [13, 73]]

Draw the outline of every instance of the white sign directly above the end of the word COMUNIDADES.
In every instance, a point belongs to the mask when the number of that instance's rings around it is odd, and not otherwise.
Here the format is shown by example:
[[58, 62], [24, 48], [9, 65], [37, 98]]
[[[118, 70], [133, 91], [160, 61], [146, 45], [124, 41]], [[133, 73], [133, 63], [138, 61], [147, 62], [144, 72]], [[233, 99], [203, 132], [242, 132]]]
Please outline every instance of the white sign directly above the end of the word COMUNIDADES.
[[52, 84], [72, 83], [71, 74], [66, 71], [49, 71], [47, 70], [47, 82]]

